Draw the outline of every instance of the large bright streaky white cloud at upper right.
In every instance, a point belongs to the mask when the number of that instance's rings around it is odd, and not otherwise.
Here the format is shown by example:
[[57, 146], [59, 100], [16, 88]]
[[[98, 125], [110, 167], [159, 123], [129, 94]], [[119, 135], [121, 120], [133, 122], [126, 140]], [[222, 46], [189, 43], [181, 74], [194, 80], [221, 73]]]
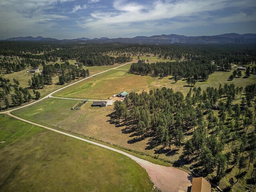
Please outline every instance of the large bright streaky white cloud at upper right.
[[94, 12], [90, 19], [79, 22], [84, 28], [96, 26], [123, 25], [124, 23], [148, 22], [190, 18], [197, 16], [198, 22], [205, 20], [200, 15], [208, 12], [224, 10], [225, 8], [248, 8], [255, 6], [253, 0], [157, 0], [152, 4], [138, 4], [116, 0], [112, 12]]

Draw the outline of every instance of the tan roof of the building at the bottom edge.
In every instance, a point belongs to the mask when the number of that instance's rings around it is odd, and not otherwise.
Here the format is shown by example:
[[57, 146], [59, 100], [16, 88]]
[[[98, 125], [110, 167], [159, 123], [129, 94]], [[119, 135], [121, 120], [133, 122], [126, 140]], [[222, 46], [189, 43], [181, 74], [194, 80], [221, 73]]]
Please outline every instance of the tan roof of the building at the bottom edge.
[[211, 184], [203, 177], [194, 177], [191, 192], [211, 192]]

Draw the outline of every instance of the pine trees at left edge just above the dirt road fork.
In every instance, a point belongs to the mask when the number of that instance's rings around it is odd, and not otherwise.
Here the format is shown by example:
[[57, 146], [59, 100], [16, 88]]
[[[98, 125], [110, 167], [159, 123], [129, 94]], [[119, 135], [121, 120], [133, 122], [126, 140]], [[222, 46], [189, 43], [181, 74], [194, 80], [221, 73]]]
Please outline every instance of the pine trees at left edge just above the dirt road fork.
[[[0, 77], [0, 100], [4, 101], [4, 108], [8, 109], [9, 107], [19, 106], [25, 102], [29, 102], [32, 99], [39, 99], [41, 94], [40, 92], [33, 90], [34, 96], [29, 93], [28, 88], [19, 87], [19, 82], [16, 79], [13, 79], [13, 84], [10, 83], [9, 79]], [[12, 90], [14, 88], [14, 90]], [[10, 100], [12, 103], [10, 104]], [[2, 107], [0, 106], [0, 110]]]

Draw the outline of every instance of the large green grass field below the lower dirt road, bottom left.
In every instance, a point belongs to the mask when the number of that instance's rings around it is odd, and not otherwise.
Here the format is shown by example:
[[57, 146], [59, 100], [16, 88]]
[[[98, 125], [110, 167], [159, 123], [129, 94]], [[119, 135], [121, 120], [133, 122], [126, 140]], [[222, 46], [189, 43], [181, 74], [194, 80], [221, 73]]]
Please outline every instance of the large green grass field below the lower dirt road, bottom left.
[[0, 191], [148, 192], [147, 172], [130, 158], [0, 117]]

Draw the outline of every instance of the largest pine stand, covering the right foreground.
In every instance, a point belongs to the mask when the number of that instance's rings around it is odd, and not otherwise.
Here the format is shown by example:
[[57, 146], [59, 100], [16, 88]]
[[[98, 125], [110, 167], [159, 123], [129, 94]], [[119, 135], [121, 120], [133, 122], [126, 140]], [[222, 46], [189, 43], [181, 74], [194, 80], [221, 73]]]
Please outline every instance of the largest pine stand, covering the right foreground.
[[124, 102], [114, 103], [114, 114], [133, 126], [141, 139], [152, 136], [170, 150], [183, 146], [184, 159], [196, 157], [194, 170], [196, 166], [205, 174], [216, 170], [220, 179], [229, 165], [241, 170], [248, 162], [249, 168], [256, 158], [256, 123], [248, 131], [256, 117], [256, 84], [246, 86], [241, 103], [233, 104], [242, 90], [234, 84], [203, 91], [190, 88], [185, 98], [181, 92], [165, 87], [149, 94], [131, 92]]

